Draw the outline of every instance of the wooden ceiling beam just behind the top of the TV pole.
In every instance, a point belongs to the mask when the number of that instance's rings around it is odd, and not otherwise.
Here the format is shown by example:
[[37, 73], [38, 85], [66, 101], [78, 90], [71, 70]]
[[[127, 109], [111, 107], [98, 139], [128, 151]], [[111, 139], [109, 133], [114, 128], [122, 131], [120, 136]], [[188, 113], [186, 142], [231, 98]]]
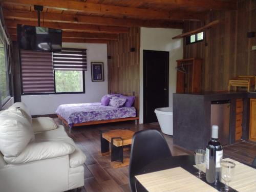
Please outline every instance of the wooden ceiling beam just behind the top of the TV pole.
[[[5, 19], [22, 19], [37, 21], [36, 12], [14, 12], [3, 9]], [[97, 16], [81, 16], [81, 15], [62, 15], [58, 13], [41, 14], [43, 22], [60, 22], [73, 24], [94, 24], [104, 26], [123, 26], [123, 27], [159, 27], [159, 28], [175, 28], [182, 29], [182, 23], [167, 22], [166, 20], [141, 20], [141, 19], [124, 19], [124, 18], [107, 18]]]

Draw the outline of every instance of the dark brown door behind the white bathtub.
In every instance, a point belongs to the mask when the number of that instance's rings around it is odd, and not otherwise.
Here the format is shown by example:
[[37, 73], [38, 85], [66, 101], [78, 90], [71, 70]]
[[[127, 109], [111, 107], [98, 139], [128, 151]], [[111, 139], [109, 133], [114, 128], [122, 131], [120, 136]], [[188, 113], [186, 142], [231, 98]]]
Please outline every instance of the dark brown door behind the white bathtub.
[[143, 50], [143, 121], [157, 122], [156, 108], [168, 106], [169, 52]]

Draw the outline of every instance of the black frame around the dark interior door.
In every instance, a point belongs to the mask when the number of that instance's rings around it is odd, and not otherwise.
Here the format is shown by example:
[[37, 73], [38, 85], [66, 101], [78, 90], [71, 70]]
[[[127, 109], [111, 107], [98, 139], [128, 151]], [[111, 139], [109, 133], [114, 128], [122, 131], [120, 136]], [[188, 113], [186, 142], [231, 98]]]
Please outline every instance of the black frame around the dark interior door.
[[142, 50], [142, 57], [143, 57], [143, 63], [142, 63], [142, 73], [143, 73], [143, 123], [145, 123], [145, 119], [146, 119], [146, 100], [145, 100], [145, 92], [146, 92], [146, 75], [145, 75], [145, 72], [146, 72], [146, 65], [145, 65], [145, 57], [144, 57], [144, 53], [145, 52], [151, 52], [151, 51], [154, 51], [154, 52], [165, 52], [165, 53], [168, 53], [168, 56], [167, 56], [167, 62], [168, 62], [168, 65], [166, 67], [166, 71], [167, 71], [167, 77], [166, 77], [166, 105], [169, 106], [169, 51], [159, 51], [159, 50], [146, 50], [146, 49], [143, 49]]

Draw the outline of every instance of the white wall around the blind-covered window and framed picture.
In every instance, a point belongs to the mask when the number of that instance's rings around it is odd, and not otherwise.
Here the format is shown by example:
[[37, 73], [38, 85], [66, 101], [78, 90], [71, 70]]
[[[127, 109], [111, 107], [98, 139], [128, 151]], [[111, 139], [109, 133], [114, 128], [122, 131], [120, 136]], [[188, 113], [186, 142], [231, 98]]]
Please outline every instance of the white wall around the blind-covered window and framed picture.
[[[63, 43], [65, 48], [87, 49], [87, 71], [84, 94], [23, 95], [22, 102], [28, 105], [32, 115], [54, 114], [58, 105], [65, 103], [100, 102], [108, 94], [108, 59], [106, 44]], [[104, 81], [92, 82], [91, 62], [104, 63]]]

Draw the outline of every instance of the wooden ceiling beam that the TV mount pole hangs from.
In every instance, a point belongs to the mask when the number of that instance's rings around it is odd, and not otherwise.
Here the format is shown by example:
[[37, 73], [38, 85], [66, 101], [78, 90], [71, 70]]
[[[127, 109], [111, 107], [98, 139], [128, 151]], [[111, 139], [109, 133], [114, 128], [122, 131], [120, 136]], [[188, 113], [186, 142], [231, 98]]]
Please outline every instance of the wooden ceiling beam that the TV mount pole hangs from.
[[96, 13], [108, 15], [123, 15], [133, 17], [145, 17], [151, 19], [168, 19], [168, 20], [202, 20], [204, 14], [189, 13], [186, 11], [158, 11], [152, 9], [141, 9], [132, 7], [121, 7], [104, 4], [94, 4], [69, 0], [2, 0], [11, 5], [41, 5], [46, 8], [54, 8], [66, 11], [77, 11], [83, 13]]

